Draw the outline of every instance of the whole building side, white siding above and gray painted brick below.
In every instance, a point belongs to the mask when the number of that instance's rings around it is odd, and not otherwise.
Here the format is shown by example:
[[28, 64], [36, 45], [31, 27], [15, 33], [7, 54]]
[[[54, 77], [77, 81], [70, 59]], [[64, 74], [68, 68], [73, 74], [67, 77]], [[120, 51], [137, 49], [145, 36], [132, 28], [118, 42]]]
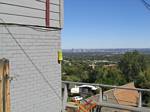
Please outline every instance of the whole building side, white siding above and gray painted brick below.
[[61, 112], [63, 0], [1, 0], [0, 58], [10, 62], [11, 112]]

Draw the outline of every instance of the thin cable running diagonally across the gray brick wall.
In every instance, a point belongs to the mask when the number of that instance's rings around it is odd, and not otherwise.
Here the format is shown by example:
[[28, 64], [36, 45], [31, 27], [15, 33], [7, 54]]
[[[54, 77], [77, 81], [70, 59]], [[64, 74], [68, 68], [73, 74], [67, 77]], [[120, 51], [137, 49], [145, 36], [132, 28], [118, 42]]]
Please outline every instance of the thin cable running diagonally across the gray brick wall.
[[[5, 21], [3, 19], [0, 18], [0, 20], [5, 23]], [[8, 33], [10, 34], [10, 36], [12, 37], [12, 39], [16, 42], [16, 44], [18, 45], [18, 47], [21, 49], [21, 51], [25, 54], [25, 56], [28, 58], [28, 60], [31, 62], [31, 64], [34, 66], [34, 68], [38, 71], [38, 73], [42, 76], [42, 78], [44, 79], [44, 81], [47, 83], [47, 85], [53, 90], [53, 92], [56, 94], [56, 96], [62, 101], [61, 96], [59, 96], [59, 94], [56, 92], [56, 90], [53, 88], [53, 86], [50, 84], [50, 82], [47, 80], [47, 78], [44, 76], [44, 74], [41, 72], [41, 70], [38, 68], [38, 66], [33, 62], [33, 60], [31, 59], [31, 57], [28, 55], [28, 53], [24, 50], [24, 48], [22, 47], [22, 45], [17, 41], [17, 39], [15, 38], [15, 36], [11, 33], [11, 31], [9, 30], [9, 28], [7, 27], [6, 24], [3, 24], [4, 27], [6, 28], [6, 30], [8, 31]]]

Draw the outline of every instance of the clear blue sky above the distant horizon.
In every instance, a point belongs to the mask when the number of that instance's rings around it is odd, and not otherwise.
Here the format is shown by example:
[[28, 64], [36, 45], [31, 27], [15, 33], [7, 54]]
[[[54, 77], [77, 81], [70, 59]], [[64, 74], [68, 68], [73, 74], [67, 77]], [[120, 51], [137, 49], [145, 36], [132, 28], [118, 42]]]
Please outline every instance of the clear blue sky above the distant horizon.
[[63, 49], [150, 48], [150, 10], [141, 0], [64, 1]]

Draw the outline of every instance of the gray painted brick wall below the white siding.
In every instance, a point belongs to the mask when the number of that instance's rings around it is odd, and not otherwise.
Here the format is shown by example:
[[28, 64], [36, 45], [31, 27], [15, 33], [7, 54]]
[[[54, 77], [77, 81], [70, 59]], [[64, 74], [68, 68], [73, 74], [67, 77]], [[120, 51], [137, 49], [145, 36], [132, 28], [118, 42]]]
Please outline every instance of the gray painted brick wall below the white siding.
[[55, 89], [48, 86], [6, 28], [0, 26], [0, 58], [9, 59], [13, 77], [11, 112], [60, 112], [61, 66], [57, 61], [60, 31], [40, 32], [18, 26], [8, 28]]

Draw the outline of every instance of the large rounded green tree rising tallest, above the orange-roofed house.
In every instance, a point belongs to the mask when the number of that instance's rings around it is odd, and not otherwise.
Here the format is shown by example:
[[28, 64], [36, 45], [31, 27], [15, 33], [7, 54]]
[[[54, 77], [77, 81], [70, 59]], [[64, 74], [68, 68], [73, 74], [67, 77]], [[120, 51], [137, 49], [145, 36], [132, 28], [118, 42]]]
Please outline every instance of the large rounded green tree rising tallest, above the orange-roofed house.
[[146, 69], [145, 58], [138, 51], [127, 52], [120, 59], [119, 68], [125, 75], [127, 82], [136, 82], [139, 74]]

